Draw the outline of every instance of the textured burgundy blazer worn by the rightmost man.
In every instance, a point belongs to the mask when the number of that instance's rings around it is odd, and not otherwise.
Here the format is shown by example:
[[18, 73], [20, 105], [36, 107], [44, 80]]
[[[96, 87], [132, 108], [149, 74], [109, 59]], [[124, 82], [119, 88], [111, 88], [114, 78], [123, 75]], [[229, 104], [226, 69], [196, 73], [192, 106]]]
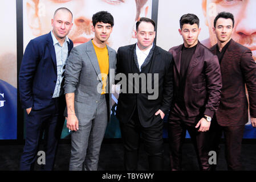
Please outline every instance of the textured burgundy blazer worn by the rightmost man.
[[[221, 126], [241, 126], [248, 122], [245, 84], [249, 93], [250, 114], [256, 117], [256, 63], [250, 49], [233, 39], [230, 41], [221, 60], [223, 86], [216, 118]], [[215, 55], [216, 46], [210, 48]]]

